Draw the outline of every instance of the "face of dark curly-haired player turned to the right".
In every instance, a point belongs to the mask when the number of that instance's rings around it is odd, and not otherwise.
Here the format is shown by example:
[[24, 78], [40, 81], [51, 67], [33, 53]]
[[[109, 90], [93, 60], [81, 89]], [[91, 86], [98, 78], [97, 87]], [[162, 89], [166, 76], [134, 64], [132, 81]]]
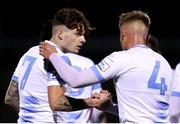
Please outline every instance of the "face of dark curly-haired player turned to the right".
[[85, 42], [84, 32], [79, 33], [77, 29], [69, 29], [65, 32], [63, 47], [66, 52], [79, 53], [79, 50]]

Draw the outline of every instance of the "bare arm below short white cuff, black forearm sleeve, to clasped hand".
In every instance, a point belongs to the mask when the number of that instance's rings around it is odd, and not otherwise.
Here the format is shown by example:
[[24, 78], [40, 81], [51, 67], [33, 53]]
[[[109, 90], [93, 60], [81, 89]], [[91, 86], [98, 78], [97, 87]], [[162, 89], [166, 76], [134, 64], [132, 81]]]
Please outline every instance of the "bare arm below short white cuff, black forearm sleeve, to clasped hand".
[[64, 95], [65, 88], [59, 85], [48, 86], [49, 104], [53, 111], [76, 111], [91, 107], [100, 107], [111, 100], [111, 94], [94, 93], [87, 99], [75, 99]]

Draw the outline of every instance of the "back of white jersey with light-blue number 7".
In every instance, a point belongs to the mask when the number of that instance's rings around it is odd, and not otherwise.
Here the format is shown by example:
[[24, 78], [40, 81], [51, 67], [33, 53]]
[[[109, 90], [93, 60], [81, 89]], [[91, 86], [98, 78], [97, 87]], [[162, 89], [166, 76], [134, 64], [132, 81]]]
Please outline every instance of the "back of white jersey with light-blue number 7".
[[49, 122], [53, 114], [47, 97], [47, 73], [39, 46], [29, 49], [20, 59], [13, 77], [19, 83], [20, 112], [18, 122]]

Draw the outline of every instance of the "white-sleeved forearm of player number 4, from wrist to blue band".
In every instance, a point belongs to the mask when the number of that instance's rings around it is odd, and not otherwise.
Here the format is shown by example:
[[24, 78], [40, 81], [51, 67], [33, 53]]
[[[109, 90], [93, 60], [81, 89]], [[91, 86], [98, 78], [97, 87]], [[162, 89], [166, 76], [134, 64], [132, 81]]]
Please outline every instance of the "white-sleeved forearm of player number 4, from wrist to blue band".
[[90, 85], [99, 81], [91, 69], [77, 71], [66, 64], [61, 56], [57, 53], [54, 53], [50, 56], [50, 61], [62, 79], [72, 87]]

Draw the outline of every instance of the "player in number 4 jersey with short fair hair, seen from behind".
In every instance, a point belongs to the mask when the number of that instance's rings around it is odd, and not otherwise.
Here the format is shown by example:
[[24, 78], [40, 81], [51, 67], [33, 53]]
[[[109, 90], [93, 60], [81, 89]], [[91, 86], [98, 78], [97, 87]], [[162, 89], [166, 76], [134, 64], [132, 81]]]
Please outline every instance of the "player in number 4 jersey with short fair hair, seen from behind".
[[72, 87], [113, 78], [120, 122], [167, 123], [171, 67], [166, 59], [146, 46], [150, 18], [143, 11], [120, 16], [120, 43], [123, 51], [113, 52], [99, 64], [76, 71], [56, 49], [42, 42], [40, 54], [52, 62], [59, 75]]

